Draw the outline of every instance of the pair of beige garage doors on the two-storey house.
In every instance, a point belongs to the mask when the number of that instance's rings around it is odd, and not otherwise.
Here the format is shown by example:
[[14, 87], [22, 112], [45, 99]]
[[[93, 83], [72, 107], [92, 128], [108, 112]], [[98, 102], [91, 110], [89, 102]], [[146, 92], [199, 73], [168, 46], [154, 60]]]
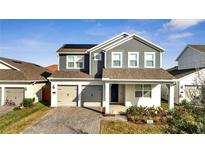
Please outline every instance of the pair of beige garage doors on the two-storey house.
[[102, 103], [102, 85], [82, 85], [78, 92], [77, 85], [58, 85], [58, 106], [77, 106], [79, 95], [81, 95], [80, 106], [100, 107]]

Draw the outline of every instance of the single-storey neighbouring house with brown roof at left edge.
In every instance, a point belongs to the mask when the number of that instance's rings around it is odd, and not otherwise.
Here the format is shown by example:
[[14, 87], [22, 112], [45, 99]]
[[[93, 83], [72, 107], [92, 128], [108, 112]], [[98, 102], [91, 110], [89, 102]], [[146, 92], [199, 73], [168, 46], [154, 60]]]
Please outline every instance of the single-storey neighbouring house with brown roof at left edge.
[[33, 63], [0, 57], [0, 105], [6, 100], [16, 104], [24, 98], [42, 100], [42, 88], [50, 72]]

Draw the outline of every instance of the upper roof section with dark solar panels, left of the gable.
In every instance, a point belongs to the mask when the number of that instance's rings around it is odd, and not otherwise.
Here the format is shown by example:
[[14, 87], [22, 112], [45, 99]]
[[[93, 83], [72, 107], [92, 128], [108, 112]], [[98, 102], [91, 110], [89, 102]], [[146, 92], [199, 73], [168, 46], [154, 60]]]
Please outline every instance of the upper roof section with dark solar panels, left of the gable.
[[97, 44], [64, 44], [57, 52], [85, 52]]

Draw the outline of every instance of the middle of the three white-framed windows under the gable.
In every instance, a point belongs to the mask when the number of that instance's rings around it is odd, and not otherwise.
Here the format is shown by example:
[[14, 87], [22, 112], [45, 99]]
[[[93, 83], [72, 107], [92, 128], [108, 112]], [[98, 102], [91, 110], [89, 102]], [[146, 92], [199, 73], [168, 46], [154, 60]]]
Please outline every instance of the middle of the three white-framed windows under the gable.
[[128, 67], [138, 67], [139, 62], [138, 52], [128, 52]]

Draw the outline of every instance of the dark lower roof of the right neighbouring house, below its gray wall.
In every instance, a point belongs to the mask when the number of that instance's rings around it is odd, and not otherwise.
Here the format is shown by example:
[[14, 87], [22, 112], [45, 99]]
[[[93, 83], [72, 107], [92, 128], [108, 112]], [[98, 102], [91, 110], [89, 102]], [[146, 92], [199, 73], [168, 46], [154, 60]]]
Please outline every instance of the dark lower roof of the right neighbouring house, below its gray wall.
[[[203, 68], [200, 68], [200, 69], [203, 69]], [[167, 70], [170, 74], [172, 74], [173, 76], [175, 76], [175, 78], [179, 79], [179, 78], [182, 78], [184, 76], [187, 76], [191, 73], [194, 73], [196, 72], [196, 69], [195, 68], [191, 68], [191, 69], [182, 69], [182, 70], [179, 70], [177, 66], [173, 67], [173, 68], [170, 68]]]

